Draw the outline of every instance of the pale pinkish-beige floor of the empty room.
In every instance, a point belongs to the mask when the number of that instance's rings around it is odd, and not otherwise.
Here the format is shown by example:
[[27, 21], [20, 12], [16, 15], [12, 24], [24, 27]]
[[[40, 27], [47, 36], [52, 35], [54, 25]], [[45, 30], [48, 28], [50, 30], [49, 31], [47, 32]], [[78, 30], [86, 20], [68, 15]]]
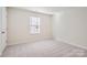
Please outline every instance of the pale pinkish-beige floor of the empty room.
[[64, 42], [45, 40], [7, 46], [2, 57], [86, 57], [87, 51]]

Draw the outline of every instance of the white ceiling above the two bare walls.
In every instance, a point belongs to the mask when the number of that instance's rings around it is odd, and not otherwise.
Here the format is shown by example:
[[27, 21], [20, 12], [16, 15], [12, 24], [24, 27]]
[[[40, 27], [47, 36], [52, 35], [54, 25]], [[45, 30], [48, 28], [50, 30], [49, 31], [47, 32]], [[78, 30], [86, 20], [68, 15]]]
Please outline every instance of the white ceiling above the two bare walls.
[[35, 12], [41, 12], [41, 13], [53, 14], [55, 12], [61, 12], [69, 9], [83, 9], [86, 7], [19, 7], [19, 8], [35, 11]]

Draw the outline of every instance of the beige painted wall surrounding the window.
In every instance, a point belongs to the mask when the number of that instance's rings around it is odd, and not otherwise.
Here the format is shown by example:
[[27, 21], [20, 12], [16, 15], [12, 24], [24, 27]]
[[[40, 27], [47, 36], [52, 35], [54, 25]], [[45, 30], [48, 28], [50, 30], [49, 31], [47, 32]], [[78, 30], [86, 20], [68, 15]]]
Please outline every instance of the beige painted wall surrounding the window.
[[[30, 17], [41, 18], [41, 33], [30, 34]], [[8, 45], [52, 39], [52, 15], [8, 8]]]

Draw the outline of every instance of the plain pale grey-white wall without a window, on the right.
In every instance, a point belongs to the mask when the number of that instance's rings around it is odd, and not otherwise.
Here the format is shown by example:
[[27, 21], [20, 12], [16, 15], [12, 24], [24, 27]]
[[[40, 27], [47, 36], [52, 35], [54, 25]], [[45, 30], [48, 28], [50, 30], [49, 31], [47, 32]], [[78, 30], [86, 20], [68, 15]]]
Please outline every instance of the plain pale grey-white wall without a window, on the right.
[[87, 9], [69, 9], [53, 17], [55, 40], [87, 48]]

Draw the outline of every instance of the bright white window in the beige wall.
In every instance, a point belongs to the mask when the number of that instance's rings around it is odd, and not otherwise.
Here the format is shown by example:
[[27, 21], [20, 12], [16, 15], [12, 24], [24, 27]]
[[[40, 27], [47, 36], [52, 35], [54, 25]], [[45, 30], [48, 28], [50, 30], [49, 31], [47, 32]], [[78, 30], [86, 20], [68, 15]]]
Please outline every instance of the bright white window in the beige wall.
[[30, 17], [30, 33], [31, 34], [40, 33], [40, 18]]

